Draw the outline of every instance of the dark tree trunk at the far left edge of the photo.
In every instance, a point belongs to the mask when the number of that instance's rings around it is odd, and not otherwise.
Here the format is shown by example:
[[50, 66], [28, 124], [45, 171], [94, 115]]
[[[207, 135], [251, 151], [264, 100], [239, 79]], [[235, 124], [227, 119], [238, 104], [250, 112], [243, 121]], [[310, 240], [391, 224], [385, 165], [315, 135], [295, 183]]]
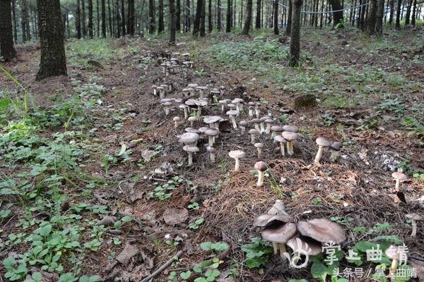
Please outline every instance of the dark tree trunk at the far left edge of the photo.
[[0, 57], [5, 61], [16, 57], [13, 47], [11, 0], [0, 0]]

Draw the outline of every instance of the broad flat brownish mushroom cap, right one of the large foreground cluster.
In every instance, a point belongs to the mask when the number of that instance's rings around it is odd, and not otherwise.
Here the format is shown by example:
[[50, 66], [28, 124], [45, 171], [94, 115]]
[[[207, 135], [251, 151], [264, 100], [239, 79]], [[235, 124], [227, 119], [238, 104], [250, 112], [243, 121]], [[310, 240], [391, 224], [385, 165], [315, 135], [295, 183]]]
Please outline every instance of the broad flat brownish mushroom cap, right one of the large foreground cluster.
[[310, 221], [299, 221], [298, 230], [300, 234], [310, 237], [322, 243], [334, 242], [340, 244], [346, 240], [345, 231], [341, 226], [328, 219], [312, 219]]

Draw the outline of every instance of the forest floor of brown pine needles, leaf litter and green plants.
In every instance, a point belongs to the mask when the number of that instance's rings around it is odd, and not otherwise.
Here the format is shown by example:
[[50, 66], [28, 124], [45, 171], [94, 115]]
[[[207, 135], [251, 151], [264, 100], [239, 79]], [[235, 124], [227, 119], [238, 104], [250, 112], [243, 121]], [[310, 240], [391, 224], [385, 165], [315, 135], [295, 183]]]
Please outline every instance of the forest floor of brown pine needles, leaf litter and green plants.
[[[305, 29], [301, 68], [286, 67], [288, 41], [268, 30], [182, 37], [177, 47], [157, 37], [70, 40], [68, 76], [40, 82], [39, 47], [18, 46], [18, 59], [3, 66], [28, 92], [0, 74], [0, 281], [30, 274], [40, 281], [37, 272], [44, 281], [141, 281], [180, 250], [153, 281], [328, 279], [333, 269], [323, 257], [293, 269], [254, 239], [261, 237], [254, 218], [276, 200], [297, 219], [343, 226], [341, 250], [353, 248], [361, 261], [341, 259], [341, 272], [363, 267], [372, 270], [367, 279], [386, 281], [375, 268], [387, 274], [390, 261], [366, 262], [365, 248], [405, 243], [423, 279], [424, 224], [411, 237], [405, 215], [424, 209], [424, 27], [382, 39]], [[172, 52], [190, 53], [187, 78], [163, 74], [158, 57]], [[165, 116], [153, 96], [152, 85], [164, 81], [174, 87], [167, 97], [182, 98], [197, 83], [261, 102], [264, 114], [300, 128], [294, 156], [281, 157], [262, 135], [270, 169], [257, 188], [256, 148], [229, 130], [218, 137], [216, 163], [201, 140], [187, 166], [177, 138], [184, 125], [172, 121], [181, 113]], [[317, 106], [294, 109], [299, 94], [316, 95]], [[213, 114], [218, 106], [204, 109]], [[338, 161], [324, 152], [321, 166], [310, 166], [317, 137], [343, 142]], [[232, 171], [232, 149], [247, 153], [240, 172]], [[401, 184], [406, 202], [395, 202], [393, 171], [409, 176]]]

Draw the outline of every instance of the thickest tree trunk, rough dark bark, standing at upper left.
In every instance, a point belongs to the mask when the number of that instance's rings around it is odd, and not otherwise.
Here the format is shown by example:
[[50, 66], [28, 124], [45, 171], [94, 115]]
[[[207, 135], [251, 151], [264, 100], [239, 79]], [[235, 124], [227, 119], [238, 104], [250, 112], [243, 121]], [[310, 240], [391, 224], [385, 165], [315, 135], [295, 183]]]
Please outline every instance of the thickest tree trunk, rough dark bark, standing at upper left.
[[61, 28], [59, 0], [38, 0], [38, 30], [40, 32], [40, 70], [37, 80], [54, 75], [66, 75], [64, 29]]

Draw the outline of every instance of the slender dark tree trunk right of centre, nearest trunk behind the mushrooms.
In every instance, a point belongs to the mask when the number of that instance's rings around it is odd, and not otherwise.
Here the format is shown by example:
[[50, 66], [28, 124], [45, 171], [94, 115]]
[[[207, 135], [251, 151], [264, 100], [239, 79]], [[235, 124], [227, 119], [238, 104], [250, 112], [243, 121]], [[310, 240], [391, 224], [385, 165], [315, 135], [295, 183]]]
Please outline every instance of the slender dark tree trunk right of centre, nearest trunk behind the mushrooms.
[[290, 33], [290, 60], [288, 66], [300, 66], [300, 9], [302, 0], [293, 0], [292, 26]]

